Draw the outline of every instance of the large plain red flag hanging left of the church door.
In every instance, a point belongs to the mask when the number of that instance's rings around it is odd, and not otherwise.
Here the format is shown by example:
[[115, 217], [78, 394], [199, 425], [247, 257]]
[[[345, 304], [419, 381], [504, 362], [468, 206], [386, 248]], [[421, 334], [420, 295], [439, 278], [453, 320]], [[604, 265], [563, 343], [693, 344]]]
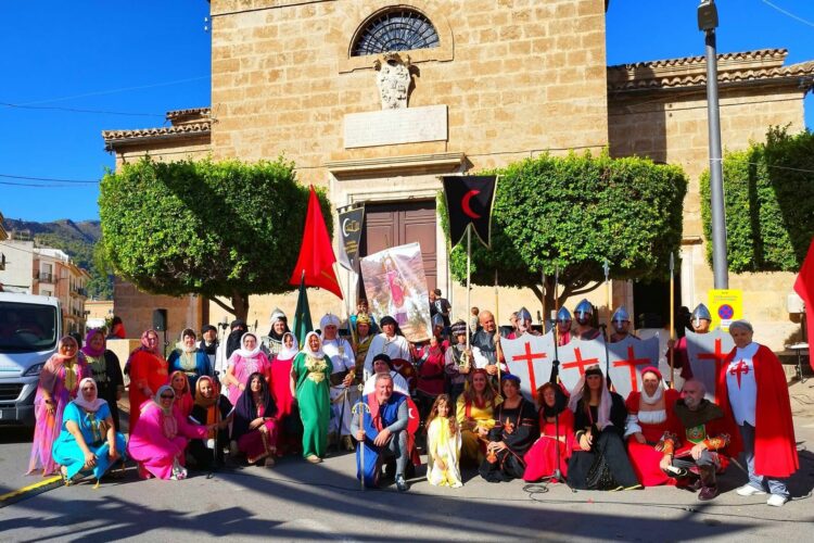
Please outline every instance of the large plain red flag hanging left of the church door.
[[311, 186], [310, 197], [308, 197], [308, 213], [305, 216], [303, 244], [300, 248], [300, 257], [289, 282], [300, 285], [300, 280], [305, 274], [305, 285], [329, 290], [342, 300], [342, 289], [340, 289], [336, 280], [336, 274], [333, 273], [334, 262], [336, 262], [336, 256], [333, 254], [331, 238], [328, 236], [328, 228], [325, 226], [319, 199]]

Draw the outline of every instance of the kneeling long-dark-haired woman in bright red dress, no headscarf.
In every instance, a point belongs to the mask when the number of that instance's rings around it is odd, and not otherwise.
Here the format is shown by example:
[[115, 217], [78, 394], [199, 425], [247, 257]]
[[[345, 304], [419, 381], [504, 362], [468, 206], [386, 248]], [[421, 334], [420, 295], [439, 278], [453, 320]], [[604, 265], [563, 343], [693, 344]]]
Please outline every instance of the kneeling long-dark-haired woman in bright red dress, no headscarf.
[[[539, 408], [539, 438], [525, 453], [523, 480], [538, 481], [551, 477], [557, 466], [559, 437], [560, 473], [568, 477], [568, 459], [571, 457], [574, 441], [574, 414], [567, 409], [568, 399], [561, 389], [547, 382], [537, 389]], [[559, 420], [557, 420], [559, 418]], [[555, 479], [556, 481], [556, 479]], [[559, 482], [559, 481], [557, 481]]]

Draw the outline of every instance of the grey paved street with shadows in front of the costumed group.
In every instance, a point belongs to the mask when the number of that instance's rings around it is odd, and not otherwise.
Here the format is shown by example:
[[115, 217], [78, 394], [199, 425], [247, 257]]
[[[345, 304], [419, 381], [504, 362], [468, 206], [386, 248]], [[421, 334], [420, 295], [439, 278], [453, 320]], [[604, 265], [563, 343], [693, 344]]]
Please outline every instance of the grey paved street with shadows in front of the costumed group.
[[[814, 441], [814, 390], [805, 383], [790, 392], [802, 450], [790, 488], [801, 497], [814, 485], [814, 455], [805, 450]], [[28, 432], [0, 430], [0, 494], [40, 480], [21, 475], [29, 440]], [[673, 488], [599, 493], [554, 485], [546, 492], [521, 481], [489, 484], [473, 472], [462, 489], [438, 489], [423, 480], [423, 468], [406, 494], [361, 493], [353, 465], [352, 455], [317, 466], [285, 458], [272, 470], [179, 482], [139, 481], [130, 469], [99, 490], [58, 487], [2, 508], [0, 540], [805, 541], [814, 522], [811, 498], [773, 508], [765, 496], [737, 496], [733, 489], [746, 480], [737, 468], [722, 478], [725, 493], [701, 504]]]

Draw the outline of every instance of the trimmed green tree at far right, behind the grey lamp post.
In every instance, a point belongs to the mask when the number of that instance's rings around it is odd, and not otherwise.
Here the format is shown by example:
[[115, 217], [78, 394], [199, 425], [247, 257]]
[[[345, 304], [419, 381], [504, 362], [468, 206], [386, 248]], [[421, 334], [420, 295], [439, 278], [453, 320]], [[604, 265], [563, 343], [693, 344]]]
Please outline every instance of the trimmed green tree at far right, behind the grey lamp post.
[[[729, 269], [798, 272], [814, 238], [814, 132], [771, 127], [765, 143], [724, 155]], [[701, 176], [707, 260], [712, 266], [710, 173]]]

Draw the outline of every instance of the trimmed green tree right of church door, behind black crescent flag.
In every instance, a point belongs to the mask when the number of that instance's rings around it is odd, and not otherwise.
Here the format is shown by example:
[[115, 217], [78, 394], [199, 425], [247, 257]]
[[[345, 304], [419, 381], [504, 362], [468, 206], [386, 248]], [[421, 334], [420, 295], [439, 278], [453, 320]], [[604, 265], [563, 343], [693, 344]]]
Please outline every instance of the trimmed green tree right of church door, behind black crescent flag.
[[[500, 179], [492, 249], [472, 245], [475, 285], [494, 285], [497, 274], [498, 285], [530, 288], [550, 311], [556, 267], [560, 304], [601, 285], [605, 258], [614, 279], [669, 277], [670, 254], [681, 243], [687, 191], [678, 166], [586, 152], [544, 154], [487, 173]], [[448, 232], [443, 194], [438, 209]], [[453, 250], [450, 268], [457, 280], [466, 281], [466, 243]]]

